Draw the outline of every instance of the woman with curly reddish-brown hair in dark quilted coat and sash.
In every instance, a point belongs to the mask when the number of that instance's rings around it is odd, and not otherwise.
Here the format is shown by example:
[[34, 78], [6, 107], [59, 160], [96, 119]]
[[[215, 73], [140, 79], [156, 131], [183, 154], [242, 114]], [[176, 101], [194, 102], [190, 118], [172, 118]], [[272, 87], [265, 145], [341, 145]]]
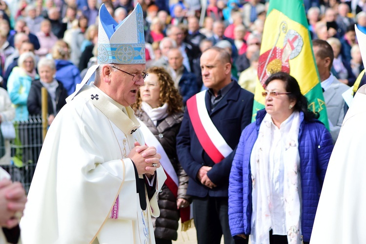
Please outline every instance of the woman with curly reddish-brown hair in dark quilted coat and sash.
[[151, 67], [146, 72], [149, 75], [132, 108], [143, 123], [145, 143], [157, 148], [162, 155], [160, 162], [171, 179], [164, 183], [158, 195], [160, 217], [153, 218], [156, 243], [171, 244], [178, 238], [180, 217], [182, 222], [189, 221], [188, 176], [178, 161], [176, 150], [176, 137], [183, 120], [183, 99], [164, 68]]

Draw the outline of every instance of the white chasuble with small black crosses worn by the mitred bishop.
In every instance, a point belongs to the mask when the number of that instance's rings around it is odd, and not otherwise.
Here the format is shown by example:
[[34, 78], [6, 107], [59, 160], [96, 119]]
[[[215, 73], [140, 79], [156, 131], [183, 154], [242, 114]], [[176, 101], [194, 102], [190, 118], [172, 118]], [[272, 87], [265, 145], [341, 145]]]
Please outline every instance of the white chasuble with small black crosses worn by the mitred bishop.
[[139, 126], [130, 107], [84, 85], [47, 132], [20, 222], [23, 244], [155, 243], [150, 216], [160, 214], [166, 176], [157, 170], [156, 194], [142, 211], [126, 158], [144, 144]]

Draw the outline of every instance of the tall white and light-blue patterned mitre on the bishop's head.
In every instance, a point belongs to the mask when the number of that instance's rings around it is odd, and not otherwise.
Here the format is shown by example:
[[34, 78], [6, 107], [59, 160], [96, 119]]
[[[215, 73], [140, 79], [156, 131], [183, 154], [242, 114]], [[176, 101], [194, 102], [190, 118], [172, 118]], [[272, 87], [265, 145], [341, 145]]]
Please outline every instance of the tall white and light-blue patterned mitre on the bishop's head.
[[102, 4], [99, 9], [98, 63], [146, 63], [143, 14], [139, 3], [121, 23], [117, 23]]

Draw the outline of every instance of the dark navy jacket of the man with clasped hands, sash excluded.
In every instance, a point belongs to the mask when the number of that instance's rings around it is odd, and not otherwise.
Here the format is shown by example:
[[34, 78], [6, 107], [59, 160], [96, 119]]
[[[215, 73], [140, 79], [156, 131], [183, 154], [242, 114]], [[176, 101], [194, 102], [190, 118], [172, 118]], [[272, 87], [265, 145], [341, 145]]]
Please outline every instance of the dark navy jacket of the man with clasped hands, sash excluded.
[[[216, 164], [203, 150], [192, 127], [189, 114], [185, 110], [182, 126], [177, 136], [177, 153], [179, 162], [189, 176], [187, 195], [201, 198], [207, 195], [211, 197], [228, 196], [231, 163], [240, 134], [251, 121], [253, 99], [252, 93], [244, 90], [235, 82], [224, 98], [216, 105], [215, 110], [211, 112], [210, 97], [206, 92], [205, 102], [208, 114], [226, 143], [234, 150]], [[204, 186], [196, 178], [199, 169], [204, 165], [212, 166], [207, 176], [217, 185], [213, 189]]]

